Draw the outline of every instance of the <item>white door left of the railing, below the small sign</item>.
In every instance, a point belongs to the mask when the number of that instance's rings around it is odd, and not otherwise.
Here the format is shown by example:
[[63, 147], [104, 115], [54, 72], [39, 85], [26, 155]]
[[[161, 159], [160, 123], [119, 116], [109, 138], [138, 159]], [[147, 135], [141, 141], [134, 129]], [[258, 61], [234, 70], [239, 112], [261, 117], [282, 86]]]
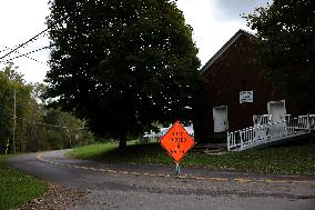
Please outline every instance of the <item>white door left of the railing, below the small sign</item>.
[[213, 108], [213, 122], [214, 122], [214, 132], [224, 132], [228, 130], [226, 106]]

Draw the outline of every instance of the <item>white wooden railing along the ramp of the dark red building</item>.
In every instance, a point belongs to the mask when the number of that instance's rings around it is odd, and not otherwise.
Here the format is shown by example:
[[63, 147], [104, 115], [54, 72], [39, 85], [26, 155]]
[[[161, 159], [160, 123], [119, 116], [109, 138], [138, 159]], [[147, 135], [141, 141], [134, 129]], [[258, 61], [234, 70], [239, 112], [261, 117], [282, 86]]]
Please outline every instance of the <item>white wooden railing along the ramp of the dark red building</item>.
[[315, 114], [256, 124], [243, 130], [227, 132], [227, 150], [242, 151], [261, 147], [270, 142], [311, 133], [311, 130], [315, 130]]

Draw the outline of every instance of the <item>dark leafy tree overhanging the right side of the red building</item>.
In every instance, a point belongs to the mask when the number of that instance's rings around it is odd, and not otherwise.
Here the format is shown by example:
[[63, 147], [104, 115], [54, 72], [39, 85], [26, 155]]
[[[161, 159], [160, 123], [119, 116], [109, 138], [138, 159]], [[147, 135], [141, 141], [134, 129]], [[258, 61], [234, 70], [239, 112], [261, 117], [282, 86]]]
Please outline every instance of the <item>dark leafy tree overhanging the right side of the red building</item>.
[[315, 2], [274, 0], [246, 19], [257, 30], [257, 61], [266, 69], [264, 76], [314, 111]]

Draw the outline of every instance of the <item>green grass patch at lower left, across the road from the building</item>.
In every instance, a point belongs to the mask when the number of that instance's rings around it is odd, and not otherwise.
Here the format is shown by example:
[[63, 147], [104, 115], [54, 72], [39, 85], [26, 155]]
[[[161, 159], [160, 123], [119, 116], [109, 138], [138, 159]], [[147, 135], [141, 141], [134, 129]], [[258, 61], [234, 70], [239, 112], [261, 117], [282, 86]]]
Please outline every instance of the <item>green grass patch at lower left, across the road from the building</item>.
[[0, 210], [18, 209], [48, 190], [48, 184], [12, 169], [0, 156]]

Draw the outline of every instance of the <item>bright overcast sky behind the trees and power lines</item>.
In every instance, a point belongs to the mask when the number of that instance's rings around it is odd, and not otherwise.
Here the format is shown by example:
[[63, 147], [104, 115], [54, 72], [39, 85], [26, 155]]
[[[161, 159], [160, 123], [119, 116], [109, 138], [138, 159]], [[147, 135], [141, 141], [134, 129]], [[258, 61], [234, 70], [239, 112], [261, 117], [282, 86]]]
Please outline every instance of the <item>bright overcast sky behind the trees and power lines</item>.
[[[202, 64], [238, 29], [250, 31], [240, 14], [252, 12], [255, 7], [265, 7], [267, 2], [271, 0], [177, 0], [186, 22], [193, 27], [193, 38], [200, 49]], [[48, 14], [48, 0], [0, 0], [0, 58], [9, 52], [8, 48], [13, 48], [44, 30]], [[49, 46], [49, 40], [44, 36], [4, 60], [45, 46]], [[29, 54], [29, 58], [12, 61], [19, 66], [19, 71], [28, 82], [42, 82], [49, 70], [45, 64], [48, 59], [49, 50], [41, 50]], [[0, 69], [3, 67], [4, 63], [0, 62]]]

